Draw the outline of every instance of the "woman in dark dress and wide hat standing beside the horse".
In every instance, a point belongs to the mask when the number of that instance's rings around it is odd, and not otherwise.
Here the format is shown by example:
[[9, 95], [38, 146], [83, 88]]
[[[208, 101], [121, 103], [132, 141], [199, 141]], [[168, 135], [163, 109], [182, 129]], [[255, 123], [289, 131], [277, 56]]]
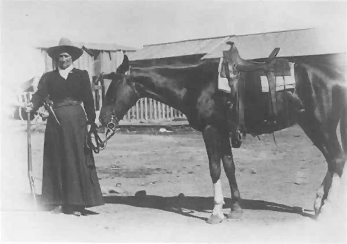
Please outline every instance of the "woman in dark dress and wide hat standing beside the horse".
[[73, 67], [83, 50], [68, 39], [61, 38], [47, 53], [58, 69], [41, 77], [27, 107], [37, 111], [48, 96], [53, 102], [44, 138], [42, 202], [53, 212], [80, 216], [85, 208], [104, 204], [93, 153], [86, 145], [87, 124], [95, 129], [90, 79], [87, 71]]

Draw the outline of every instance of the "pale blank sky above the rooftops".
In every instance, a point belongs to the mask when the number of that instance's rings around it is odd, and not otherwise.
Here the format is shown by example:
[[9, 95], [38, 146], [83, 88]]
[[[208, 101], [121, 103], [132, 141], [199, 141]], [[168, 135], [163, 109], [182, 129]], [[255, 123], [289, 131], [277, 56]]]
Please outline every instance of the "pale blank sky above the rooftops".
[[1, 85], [42, 75], [44, 40], [141, 48], [202, 37], [331, 26], [346, 29], [345, 1], [1, 1]]

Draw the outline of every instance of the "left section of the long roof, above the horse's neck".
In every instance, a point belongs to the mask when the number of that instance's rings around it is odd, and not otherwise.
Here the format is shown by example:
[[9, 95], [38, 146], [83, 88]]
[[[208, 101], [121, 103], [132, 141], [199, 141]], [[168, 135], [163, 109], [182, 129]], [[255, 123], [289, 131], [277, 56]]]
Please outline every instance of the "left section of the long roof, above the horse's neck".
[[130, 61], [135, 61], [205, 54], [214, 50], [231, 36], [144, 45], [142, 49], [135, 53], [130, 53], [128, 56]]

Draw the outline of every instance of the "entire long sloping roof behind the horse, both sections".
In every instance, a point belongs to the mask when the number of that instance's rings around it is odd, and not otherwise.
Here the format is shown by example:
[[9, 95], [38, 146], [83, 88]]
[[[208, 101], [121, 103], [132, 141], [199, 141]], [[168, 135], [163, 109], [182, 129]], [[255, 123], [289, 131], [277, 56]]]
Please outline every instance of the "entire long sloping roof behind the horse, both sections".
[[279, 57], [344, 53], [347, 50], [341, 30], [307, 28], [145, 45], [128, 56], [130, 61], [194, 54], [206, 54], [202, 59], [220, 58], [222, 51], [230, 48], [225, 44], [227, 41], [235, 42], [244, 59], [267, 58], [275, 47], [281, 49]]

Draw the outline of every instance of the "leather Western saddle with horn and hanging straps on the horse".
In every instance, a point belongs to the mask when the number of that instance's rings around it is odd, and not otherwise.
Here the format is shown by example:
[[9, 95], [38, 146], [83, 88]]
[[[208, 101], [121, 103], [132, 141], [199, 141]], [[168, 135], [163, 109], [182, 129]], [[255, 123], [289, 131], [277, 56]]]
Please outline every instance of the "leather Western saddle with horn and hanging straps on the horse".
[[[265, 75], [269, 84], [269, 114], [270, 117], [276, 118], [278, 115], [277, 99], [276, 99], [276, 78], [278, 76], [290, 76], [289, 61], [285, 58], [276, 58], [280, 51], [279, 47], [276, 47], [269, 57], [264, 62], [256, 62], [252, 60], [244, 60], [240, 57], [238, 50], [234, 42], [227, 42], [230, 45], [228, 51], [223, 51], [223, 65], [221, 68], [220, 76], [228, 78], [227, 72], [230, 72], [229, 66], [235, 67], [242, 72], [254, 72], [258, 71], [260, 75]], [[234, 71], [234, 70], [232, 70]], [[242, 76], [246, 77], [246, 76]], [[238, 129], [244, 134], [247, 133], [244, 122], [244, 110], [245, 110], [245, 85], [247, 82], [253, 82], [247, 79], [238, 79], [236, 85], [236, 110], [238, 114]], [[261, 82], [259, 80], [259, 82]], [[250, 84], [254, 85], [254, 84]], [[248, 85], [249, 87], [249, 85]], [[255, 87], [254, 87], [255, 89]], [[261, 91], [260, 91], [261, 92]], [[261, 96], [261, 95], [260, 95]], [[276, 120], [273, 121], [276, 124]]]

